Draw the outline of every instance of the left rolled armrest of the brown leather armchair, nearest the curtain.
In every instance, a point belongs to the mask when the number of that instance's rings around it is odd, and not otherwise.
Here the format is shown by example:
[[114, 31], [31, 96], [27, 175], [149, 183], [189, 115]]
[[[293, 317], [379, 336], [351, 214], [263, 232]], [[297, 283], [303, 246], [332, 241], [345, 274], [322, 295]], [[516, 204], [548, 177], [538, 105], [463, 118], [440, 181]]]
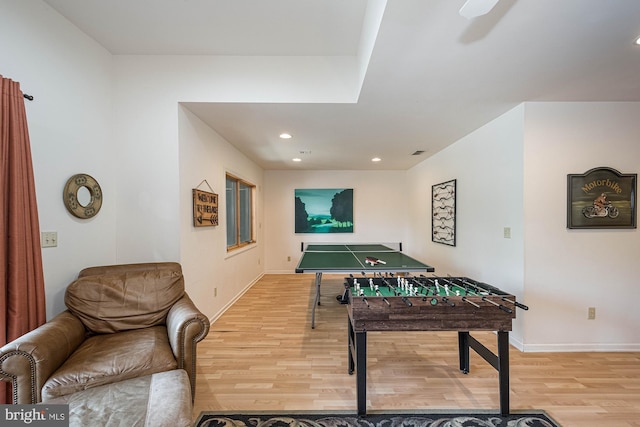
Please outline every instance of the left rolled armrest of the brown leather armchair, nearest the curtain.
[[64, 311], [0, 348], [0, 379], [11, 381], [14, 404], [42, 400], [42, 386], [85, 339], [82, 322]]

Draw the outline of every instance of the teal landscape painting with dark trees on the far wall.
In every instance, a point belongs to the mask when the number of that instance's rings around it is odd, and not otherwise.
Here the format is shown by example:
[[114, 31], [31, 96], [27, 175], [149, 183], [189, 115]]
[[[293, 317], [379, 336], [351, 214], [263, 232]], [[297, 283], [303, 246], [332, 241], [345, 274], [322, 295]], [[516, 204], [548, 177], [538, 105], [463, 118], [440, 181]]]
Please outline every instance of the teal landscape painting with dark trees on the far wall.
[[353, 233], [353, 189], [295, 190], [296, 233]]

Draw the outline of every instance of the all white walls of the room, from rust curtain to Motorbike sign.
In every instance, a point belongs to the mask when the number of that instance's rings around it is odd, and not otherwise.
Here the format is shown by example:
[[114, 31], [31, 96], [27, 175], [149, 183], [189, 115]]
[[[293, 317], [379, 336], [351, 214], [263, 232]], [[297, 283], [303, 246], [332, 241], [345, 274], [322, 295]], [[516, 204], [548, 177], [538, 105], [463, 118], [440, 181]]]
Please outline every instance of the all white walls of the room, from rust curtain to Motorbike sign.
[[[0, 74], [35, 96], [26, 105], [40, 225], [59, 238], [43, 249], [49, 317], [81, 268], [165, 260], [183, 263], [189, 292], [215, 315], [262, 271], [292, 272], [300, 241], [326, 240], [293, 232], [295, 188], [352, 187], [355, 233], [332, 239], [402, 240], [439, 274], [523, 297], [531, 310], [518, 311], [512, 338], [525, 350], [640, 348], [637, 230], [566, 229], [567, 174], [637, 173], [639, 103], [525, 104], [408, 172], [261, 175], [180, 102], [354, 102], [355, 58], [112, 57], [41, 1], [0, 6]], [[258, 184], [264, 236], [234, 257], [221, 249], [222, 227], [190, 225], [190, 189], [202, 179], [223, 188], [227, 170]], [[102, 186], [92, 219], [62, 203], [75, 173]], [[454, 248], [430, 238], [431, 186], [449, 179], [458, 184]]]

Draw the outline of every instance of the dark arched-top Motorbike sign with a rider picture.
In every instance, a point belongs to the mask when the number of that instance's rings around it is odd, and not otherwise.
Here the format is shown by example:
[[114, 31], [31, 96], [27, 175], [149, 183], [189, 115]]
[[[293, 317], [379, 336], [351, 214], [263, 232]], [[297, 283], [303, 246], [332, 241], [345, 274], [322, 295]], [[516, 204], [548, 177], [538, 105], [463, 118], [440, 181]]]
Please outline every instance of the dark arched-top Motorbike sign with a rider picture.
[[567, 228], [636, 228], [637, 177], [608, 167], [567, 175]]

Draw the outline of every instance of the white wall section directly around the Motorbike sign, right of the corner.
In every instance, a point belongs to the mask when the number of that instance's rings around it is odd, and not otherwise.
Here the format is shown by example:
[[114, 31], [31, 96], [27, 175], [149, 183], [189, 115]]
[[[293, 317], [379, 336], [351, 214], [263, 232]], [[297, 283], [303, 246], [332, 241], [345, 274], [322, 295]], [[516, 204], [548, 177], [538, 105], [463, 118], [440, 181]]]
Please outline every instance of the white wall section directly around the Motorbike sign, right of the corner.
[[639, 117], [640, 103], [526, 104], [527, 350], [640, 350], [638, 230], [566, 228], [567, 174], [638, 173]]

